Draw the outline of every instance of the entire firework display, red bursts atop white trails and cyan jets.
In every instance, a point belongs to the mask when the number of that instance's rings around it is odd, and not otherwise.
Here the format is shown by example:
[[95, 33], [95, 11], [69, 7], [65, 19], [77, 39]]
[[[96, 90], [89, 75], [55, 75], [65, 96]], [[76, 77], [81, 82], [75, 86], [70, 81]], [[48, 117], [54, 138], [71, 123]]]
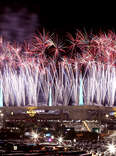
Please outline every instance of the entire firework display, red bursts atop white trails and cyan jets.
[[66, 46], [45, 30], [24, 45], [0, 39], [5, 106], [115, 105], [115, 33], [77, 31], [68, 40]]

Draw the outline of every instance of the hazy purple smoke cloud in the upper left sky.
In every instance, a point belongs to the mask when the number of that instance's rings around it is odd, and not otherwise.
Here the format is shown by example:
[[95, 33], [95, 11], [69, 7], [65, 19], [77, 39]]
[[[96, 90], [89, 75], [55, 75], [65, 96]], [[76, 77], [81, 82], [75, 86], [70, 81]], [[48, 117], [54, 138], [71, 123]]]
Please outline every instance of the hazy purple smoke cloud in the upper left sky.
[[0, 14], [0, 35], [5, 40], [23, 42], [29, 40], [38, 27], [38, 14], [27, 8], [12, 10], [5, 8]]

